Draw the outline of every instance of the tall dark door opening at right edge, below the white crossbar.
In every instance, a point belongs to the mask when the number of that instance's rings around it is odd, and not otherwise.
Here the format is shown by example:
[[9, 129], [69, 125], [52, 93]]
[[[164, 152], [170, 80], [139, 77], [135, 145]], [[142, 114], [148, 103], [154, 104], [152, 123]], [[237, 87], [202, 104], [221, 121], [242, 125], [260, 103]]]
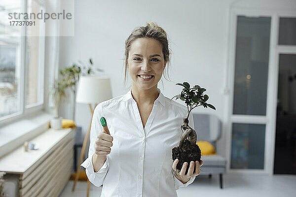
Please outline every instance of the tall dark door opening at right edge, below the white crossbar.
[[274, 174], [296, 174], [296, 54], [280, 54]]

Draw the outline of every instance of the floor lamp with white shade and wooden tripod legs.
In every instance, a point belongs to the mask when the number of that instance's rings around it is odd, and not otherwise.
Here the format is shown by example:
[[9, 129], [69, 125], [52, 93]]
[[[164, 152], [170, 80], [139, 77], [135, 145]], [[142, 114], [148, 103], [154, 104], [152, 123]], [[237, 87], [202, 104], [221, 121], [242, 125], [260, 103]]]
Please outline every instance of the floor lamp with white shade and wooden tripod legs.
[[[79, 78], [76, 102], [88, 104], [91, 112], [91, 120], [82, 143], [79, 163], [77, 165], [76, 176], [75, 176], [74, 185], [72, 188], [73, 192], [75, 190], [76, 182], [78, 181], [78, 178], [79, 178], [80, 164], [82, 164], [85, 147], [89, 138], [94, 109], [96, 108], [97, 103], [103, 102], [111, 98], [112, 98], [112, 93], [111, 93], [111, 83], [110, 83], [109, 77], [81, 76]], [[92, 108], [91, 103], [96, 103], [94, 108]], [[87, 197], [89, 196], [89, 188], [90, 188], [90, 181], [87, 179]]]

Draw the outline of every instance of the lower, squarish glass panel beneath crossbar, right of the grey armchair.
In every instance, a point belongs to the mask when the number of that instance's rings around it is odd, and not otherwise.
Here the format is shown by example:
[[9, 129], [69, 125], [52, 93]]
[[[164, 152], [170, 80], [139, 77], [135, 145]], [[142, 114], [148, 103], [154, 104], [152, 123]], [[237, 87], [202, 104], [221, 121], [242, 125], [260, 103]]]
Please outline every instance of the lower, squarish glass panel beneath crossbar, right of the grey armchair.
[[264, 168], [265, 125], [232, 124], [232, 169]]

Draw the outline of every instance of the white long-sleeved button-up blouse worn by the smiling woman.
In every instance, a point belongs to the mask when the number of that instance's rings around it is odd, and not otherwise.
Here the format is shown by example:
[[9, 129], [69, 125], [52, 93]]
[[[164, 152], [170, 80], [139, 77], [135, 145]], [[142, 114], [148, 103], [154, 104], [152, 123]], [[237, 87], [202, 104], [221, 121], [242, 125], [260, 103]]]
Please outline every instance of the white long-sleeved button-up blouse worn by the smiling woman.
[[[158, 92], [145, 128], [131, 90], [96, 106], [88, 158], [81, 166], [92, 184], [103, 185], [101, 197], [177, 197], [179, 187], [194, 181], [191, 177], [183, 184], [172, 168], [172, 148], [179, 145], [187, 108]], [[113, 145], [102, 168], [94, 172], [92, 155], [96, 137], [103, 131], [102, 116], [107, 120]], [[189, 126], [194, 128], [192, 113]]]

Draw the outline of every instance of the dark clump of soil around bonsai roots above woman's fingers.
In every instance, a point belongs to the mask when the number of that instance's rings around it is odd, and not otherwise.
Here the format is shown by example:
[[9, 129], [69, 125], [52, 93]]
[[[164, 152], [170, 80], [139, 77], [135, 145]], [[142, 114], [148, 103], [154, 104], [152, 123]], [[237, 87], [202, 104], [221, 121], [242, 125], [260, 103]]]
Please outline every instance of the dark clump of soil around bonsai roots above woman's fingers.
[[[190, 144], [188, 139], [184, 140], [183, 145], [181, 147], [177, 146], [172, 149], [172, 159], [178, 158], [179, 162], [177, 164], [177, 170], [181, 170], [183, 163], [187, 162], [187, 169], [185, 174], [188, 172], [189, 164], [191, 161], [195, 163], [198, 161], [200, 163], [201, 152], [197, 144]], [[193, 173], [195, 173], [195, 166]]]

